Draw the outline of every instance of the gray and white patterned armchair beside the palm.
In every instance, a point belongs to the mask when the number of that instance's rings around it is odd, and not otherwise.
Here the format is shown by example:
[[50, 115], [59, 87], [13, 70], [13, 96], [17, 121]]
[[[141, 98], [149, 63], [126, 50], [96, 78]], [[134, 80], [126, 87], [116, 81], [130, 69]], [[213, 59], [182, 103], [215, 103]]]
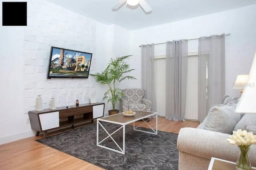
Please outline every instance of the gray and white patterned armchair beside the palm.
[[122, 109], [151, 111], [150, 100], [144, 98], [144, 90], [140, 88], [126, 88], [122, 90], [124, 98], [122, 99]]

